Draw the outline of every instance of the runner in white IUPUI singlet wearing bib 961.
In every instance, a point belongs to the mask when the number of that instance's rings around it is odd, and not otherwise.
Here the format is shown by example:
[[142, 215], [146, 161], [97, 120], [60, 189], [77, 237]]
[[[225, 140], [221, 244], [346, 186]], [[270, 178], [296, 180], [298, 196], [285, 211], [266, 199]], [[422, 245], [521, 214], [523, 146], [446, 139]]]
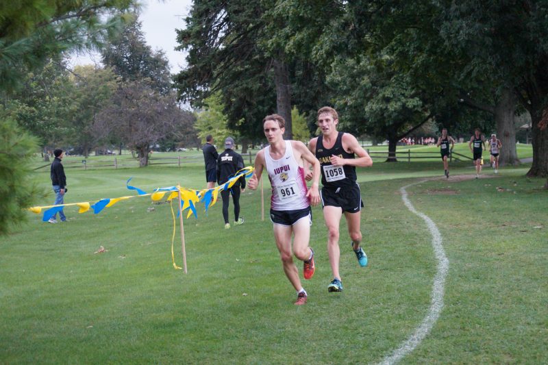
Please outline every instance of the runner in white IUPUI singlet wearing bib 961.
[[[312, 210], [310, 205], [320, 201], [320, 164], [308, 151], [303, 142], [284, 140], [286, 121], [282, 116], [272, 114], [263, 120], [264, 136], [269, 146], [261, 149], [255, 158], [255, 171], [247, 186], [256, 190], [266, 168], [272, 186], [270, 217], [274, 228], [274, 238], [279, 251], [284, 272], [297, 290], [295, 305], [306, 304], [306, 290], [301, 286], [299, 271], [292, 259], [291, 251], [303, 261], [303, 277], [314, 275], [314, 251], [309, 247]], [[313, 167], [312, 186], [308, 190], [305, 181], [303, 160]], [[291, 250], [291, 236], [293, 247]]]

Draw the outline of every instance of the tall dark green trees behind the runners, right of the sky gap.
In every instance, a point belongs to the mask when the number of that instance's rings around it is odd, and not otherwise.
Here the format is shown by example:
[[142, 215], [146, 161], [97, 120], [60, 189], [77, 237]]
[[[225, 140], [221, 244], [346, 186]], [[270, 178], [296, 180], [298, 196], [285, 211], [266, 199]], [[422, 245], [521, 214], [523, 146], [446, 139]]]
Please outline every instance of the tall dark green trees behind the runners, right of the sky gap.
[[429, 121], [470, 134], [495, 121], [517, 164], [514, 116], [532, 118], [534, 162], [548, 176], [548, 1], [195, 0], [175, 77], [192, 105], [220, 92], [229, 127], [258, 138], [262, 117], [333, 105], [343, 127], [397, 140]]

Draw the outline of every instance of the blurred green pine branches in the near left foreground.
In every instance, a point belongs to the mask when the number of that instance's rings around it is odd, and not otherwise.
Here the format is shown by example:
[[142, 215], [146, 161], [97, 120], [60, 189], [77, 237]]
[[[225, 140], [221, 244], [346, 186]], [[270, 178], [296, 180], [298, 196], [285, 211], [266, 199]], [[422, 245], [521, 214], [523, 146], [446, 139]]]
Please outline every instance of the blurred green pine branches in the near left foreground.
[[[0, 6], [0, 234], [24, 218], [21, 208], [39, 194], [27, 167], [37, 140], [21, 127], [24, 121], [8, 112], [27, 75], [50, 60], [59, 62], [66, 51], [100, 45], [132, 11], [131, 0], [3, 1]], [[35, 111], [40, 110], [38, 104]], [[27, 106], [32, 114], [33, 105]], [[51, 121], [40, 123], [47, 127]]]

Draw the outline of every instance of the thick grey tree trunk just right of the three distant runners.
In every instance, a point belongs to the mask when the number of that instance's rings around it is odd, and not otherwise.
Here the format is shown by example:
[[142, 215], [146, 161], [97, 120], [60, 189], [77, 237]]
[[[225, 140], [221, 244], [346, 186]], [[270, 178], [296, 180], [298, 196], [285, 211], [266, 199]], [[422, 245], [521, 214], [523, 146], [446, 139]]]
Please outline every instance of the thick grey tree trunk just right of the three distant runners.
[[[510, 89], [503, 90], [501, 99], [495, 105], [495, 122], [497, 123], [497, 134], [501, 140], [502, 148], [499, 154], [499, 164], [519, 165], [516, 152], [516, 126], [514, 125], [514, 112], [516, 111], [517, 99]], [[490, 136], [486, 136], [490, 138]]]

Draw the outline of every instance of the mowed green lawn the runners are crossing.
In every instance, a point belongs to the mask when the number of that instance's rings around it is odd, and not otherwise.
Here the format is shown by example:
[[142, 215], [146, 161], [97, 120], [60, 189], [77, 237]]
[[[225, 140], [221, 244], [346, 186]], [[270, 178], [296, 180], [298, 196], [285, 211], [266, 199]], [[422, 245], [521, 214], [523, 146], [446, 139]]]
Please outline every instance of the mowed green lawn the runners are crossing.
[[[445, 307], [404, 364], [548, 361], [548, 192], [527, 165], [469, 162], [451, 178], [408, 188], [416, 210], [443, 236], [449, 259]], [[369, 266], [360, 268], [341, 223], [345, 291], [332, 279], [326, 230], [315, 207], [311, 244], [316, 274], [303, 281], [307, 305], [293, 305], [260, 193], [242, 194], [245, 224], [223, 229], [221, 204], [185, 219], [188, 274], [171, 265], [169, 203], [121, 201], [100, 214], [66, 209], [69, 222], [28, 223], [2, 238], [0, 362], [157, 364], [362, 364], [399, 349], [429, 314], [437, 262], [423, 219], [399, 189], [440, 177], [440, 161], [376, 163], [360, 169]], [[134, 194], [180, 183], [203, 188], [202, 166], [67, 171], [66, 203]], [[49, 173], [36, 173], [49, 188]], [[497, 189], [498, 188], [498, 189]], [[51, 204], [50, 195], [42, 203]], [[149, 208], [154, 210], [149, 212]], [[232, 205], [231, 205], [231, 218]], [[179, 233], [175, 260], [182, 264]], [[100, 246], [108, 250], [95, 253]], [[298, 265], [299, 271], [301, 264]]]

